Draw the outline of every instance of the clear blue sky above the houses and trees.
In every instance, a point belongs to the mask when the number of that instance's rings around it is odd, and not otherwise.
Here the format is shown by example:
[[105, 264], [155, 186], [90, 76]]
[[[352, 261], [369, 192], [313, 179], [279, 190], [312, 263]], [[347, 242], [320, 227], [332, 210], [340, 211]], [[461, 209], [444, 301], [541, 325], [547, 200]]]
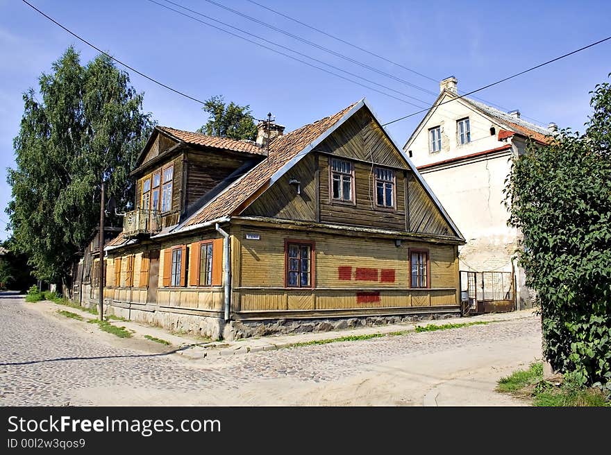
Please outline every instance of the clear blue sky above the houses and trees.
[[[177, 15], [147, 0], [30, 0], [58, 22], [167, 85], [205, 100], [221, 94], [267, 112], [294, 130], [366, 96], [383, 123], [419, 110], [415, 106], [290, 60], [267, 49]], [[164, 0], [156, 0], [164, 3]], [[192, 10], [323, 60], [425, 103], [435, 95], [308, 46], [207, 1], [173, 0]], [[215, 0], [437, 94], [438, 84], [274, 15], [247, 0]], [[537, 65], [611, 35], [608, 1], [318, 1], [257, 0], [343, 40], [383, 55], [435, 80], [454, 75], [460, 92]], [[167, 4], [167, 3], [166, 3]], [[172, 6], [176, 8], [176, 6]], [[191, 13], [192, 14], [192, 13]], [[211, 22], [210, 19], [201, 20]], [[252, 38], [250, 38], [252, 39]], [[0, 0], [0, 239], [10, 199], [6, 167], [15, 166], [12, 139], [19, 131], [22, 93], [37, 87], [67, 46], [87, 62], [97, 52], [78, 42], [19, 0]], [[266, 44], [269, 46], [269, 44]], [[289, 53], [283, 49], [279, 51]], [[294, 55], [301, 60], [306, 58]], [[311, 60], [308, 60], [312, 62]], [[312, 62], [314, 65], [323, 66]], [[335, 69], [330, 71], [338, 72]], [[476, 96], [546, 125], [582, 130], [590, 112], [588, 92], [608, 80], [611, 41], [487, 89]], [[344, 76], [356, 79], [354, 76]], [[399, 96], [360, 80], [361, 83]], [[144, 110], [160, 125], [195, 130], [206, 122], [201, 105], [131, 74], [145, 92]], [[403, 144], [422, 115], [389, 126]]]

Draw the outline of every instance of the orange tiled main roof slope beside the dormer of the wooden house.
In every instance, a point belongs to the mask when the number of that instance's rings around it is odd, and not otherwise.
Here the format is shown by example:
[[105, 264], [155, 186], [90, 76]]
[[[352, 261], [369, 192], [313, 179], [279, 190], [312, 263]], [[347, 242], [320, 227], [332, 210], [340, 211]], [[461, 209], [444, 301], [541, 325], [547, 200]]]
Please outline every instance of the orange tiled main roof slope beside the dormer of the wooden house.
[[216, 218], [233, 214], [235, 209], [264, 187], [276, 171], [280, 170], [305, 147], [315, 141], [317, 137], [335, 125], [355, 104], [349, 105], [335, 115], [302, 126], [286, 135], [276, 137], [269, 143], [269, 154], [266, 160], [262, 160], [262, 162], [243, 175], [242, 178], [229, 185], [219, 196], [211, 200], [208, 205], [202, 207], [199, 212], [196, 212], [188, 219], [184, 226], [205, 223], [206, 221], [212, 221]]

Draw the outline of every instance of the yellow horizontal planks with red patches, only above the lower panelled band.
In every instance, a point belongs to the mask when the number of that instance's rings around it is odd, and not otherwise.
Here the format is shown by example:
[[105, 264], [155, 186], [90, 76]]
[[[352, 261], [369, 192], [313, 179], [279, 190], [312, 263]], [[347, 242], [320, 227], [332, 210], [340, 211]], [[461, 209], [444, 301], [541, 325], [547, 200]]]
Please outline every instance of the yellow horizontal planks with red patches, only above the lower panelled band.
[[[401, 246], [397, 247], [392, 239], [365, 239], [248, 228], [244, 228], [244, 232], [257, 233], [259, 240], [243, 239], [244, 236], [240, 236], [240, 255], [234, 257], [234, 261], [240, 262], [239, 268], [234, 269], [237, 272], [237, 277], [234, 277], [235, 286], [283, 287], [285, 239], [315, 242], [316, 287], [351, 288], [362, 285], [390, 289], [409, 288], [409, 248], [429, 250], [431, 287], [458, 286], [455, 247], [452, 245], [428, 245], [403, 241]], [[349, 267], [349, 276], [342, 277], [346, 267]], [[376, 277], [367, 275], [367, 270], [364, 269], [373, 269], [376, 271]]]

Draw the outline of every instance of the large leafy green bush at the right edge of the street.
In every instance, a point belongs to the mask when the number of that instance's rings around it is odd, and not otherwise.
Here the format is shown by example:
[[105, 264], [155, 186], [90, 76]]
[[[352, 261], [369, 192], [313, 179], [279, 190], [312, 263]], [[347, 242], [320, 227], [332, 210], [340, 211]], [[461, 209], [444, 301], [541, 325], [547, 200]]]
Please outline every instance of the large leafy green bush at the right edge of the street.
[[[611, 74], [610, 74], [611, 76]], [[611, 384], [611, 85], [596, 85], [585, 134], [530, 144], [507, 182], [520, 263], [537, 291], [544, 355], [580, 384]]]

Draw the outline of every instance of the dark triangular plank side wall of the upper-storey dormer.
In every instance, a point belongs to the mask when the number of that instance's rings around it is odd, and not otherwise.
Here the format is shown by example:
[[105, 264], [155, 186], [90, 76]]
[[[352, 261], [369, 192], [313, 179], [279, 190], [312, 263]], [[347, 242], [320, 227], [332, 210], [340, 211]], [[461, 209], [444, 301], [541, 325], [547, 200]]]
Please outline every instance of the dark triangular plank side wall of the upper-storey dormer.
[[217, 155], [211, 151], [187, 153], [185, 209], [242, 166], [245, 157]]

